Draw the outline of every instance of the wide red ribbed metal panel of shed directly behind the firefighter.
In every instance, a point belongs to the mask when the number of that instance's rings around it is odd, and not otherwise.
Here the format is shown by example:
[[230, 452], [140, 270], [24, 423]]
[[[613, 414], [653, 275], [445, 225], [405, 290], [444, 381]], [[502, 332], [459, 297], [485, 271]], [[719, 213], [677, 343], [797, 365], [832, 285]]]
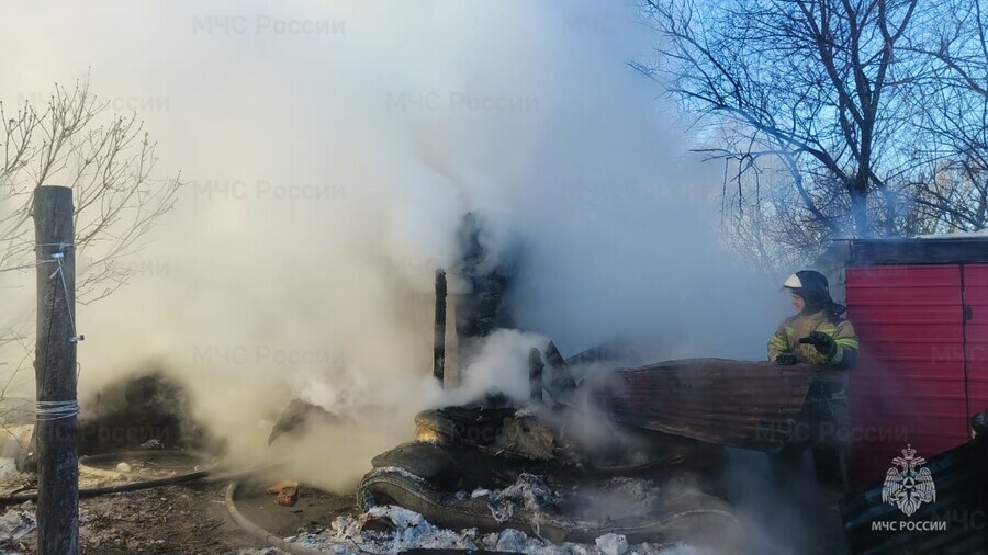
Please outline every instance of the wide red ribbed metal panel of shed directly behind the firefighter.
[[961, 265], [855, 267], [847, 316], [852, 479], [882, 479], [907, 443], [931, 456], [967, 440]]

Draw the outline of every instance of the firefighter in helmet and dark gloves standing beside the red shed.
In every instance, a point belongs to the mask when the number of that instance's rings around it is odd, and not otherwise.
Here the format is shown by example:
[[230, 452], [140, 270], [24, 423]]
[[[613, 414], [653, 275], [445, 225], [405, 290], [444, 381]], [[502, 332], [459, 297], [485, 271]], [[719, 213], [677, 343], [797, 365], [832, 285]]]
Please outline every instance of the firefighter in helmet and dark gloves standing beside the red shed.
[[810, 386], [793, 443], [774, 464], [795, 469], [809, 446], [818, 483], [843, 492], [849, 488], [851, 448], [845, 371], [857, 359], [857, 337], [851, 322], [841, 318], [845, 307], [830, 298], [820, 272], [796, 272], [783, 288], [791, 292], [797, 314], [783, 320], [768, 340], [768, 360], [779, 365], [812, 364], [821, 372]]

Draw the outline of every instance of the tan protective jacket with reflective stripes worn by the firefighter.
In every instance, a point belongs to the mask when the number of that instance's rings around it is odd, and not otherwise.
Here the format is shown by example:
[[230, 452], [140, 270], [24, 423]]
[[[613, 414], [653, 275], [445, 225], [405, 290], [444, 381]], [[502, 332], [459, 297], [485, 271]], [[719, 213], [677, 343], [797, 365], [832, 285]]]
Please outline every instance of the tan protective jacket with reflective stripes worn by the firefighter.
[[[812, 344], [800, 343], [799, 340], [813, 331], [827, 333], [833, 338], [835, 349], [832, 353], [821, 353]], [[768, 360], [775, 361], [779, 353], [796, 353], [799, 362], [828, 366], [833, 370], [847, 369], [857, 360], [857, 336], [851, 322], [837, 316], [830, 309], [812, 314], [798, 314], [783, 320], [768, 340]]]

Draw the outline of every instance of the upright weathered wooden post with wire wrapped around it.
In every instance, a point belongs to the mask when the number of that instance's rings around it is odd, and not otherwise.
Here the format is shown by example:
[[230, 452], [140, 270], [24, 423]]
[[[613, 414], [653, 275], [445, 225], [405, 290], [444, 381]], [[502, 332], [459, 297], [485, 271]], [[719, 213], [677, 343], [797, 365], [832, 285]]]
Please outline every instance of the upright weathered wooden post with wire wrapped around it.
[[37, 553], [79, 553], [72, 190], [34, 190], [37, 260]]

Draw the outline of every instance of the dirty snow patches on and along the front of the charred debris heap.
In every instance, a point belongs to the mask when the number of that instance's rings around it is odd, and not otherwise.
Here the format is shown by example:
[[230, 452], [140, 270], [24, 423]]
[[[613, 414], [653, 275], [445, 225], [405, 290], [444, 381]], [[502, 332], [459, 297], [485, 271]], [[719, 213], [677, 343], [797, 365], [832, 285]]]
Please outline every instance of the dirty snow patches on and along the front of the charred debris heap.
[[[658, 489], [651, 483], [620, 478], [609, 484], [613, 490], [628, 494], [636, 501], [647, 500]], [[508, 517], [514, 507], [529, 510], [553, 510], [562, 501], [562, 495], [549, 488], [544, 479], [531, 474], [523, 474], [518, 480], [502, 490], [478, 489], [468, 494], [459, 491], [460, 499], [485, 498], [495, 518]], [[648, 505], [648, 503], [645, 503]], [[505, 519], [507, 517], [504, 517]], [[392, 525], [388, 532], [363, 530], [369, 520], [386, 520]], [[305, 533], [289, 539], [299, 544], [337, 555], [360, 553], [400, 553], [414, 548], [478, 550], [526, 553], [531, 555], [703, 555], [707, 552], [694, 546], [675, 544], [658, 545], [642, 543], [629, 545], [619, 534], [606, 534], [593, 545], [574, 543], [552, 544], [539, 537], [530, 537], [518, 530], [507, 529], [501, 533], [482, 534], [476, 529], [460, 532], [440, 529], [430, 524], [422, 514], [401, 507], [374, 507], [356, 518], [338, 517], [327, 530]], [[261, 555], [276, 552], [243, 551], [243, 555]]]

